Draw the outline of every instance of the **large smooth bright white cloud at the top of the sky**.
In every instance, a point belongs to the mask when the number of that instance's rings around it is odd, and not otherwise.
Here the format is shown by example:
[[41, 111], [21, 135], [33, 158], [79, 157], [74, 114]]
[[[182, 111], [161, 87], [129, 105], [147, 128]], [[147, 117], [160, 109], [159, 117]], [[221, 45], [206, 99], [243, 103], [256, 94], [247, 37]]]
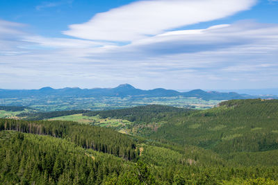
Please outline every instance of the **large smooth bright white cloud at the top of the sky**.
[[256, 0], [153, 0], [138, 1], [95, 15], [84, 24], [70, 25], [63, 33], [83, 39], [133, 41], [242, 10]]

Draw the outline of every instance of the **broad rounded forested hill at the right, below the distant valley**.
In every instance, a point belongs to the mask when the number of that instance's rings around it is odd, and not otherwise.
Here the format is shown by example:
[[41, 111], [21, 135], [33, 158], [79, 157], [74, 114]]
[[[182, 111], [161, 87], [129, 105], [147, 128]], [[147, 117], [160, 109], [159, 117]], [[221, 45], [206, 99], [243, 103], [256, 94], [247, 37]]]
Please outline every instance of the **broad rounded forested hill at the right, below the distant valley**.
[[278, 100], [230, 100], [220, 105], [171, 117], [150, 137], [222, 154], [278, 149]]

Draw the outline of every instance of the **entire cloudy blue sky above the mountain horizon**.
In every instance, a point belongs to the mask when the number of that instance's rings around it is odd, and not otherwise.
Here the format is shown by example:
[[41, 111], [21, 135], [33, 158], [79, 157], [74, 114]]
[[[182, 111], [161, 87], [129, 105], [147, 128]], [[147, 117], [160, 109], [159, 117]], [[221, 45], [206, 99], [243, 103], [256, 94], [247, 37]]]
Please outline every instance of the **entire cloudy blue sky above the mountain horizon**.
[[277, 0], [1, 0], [0, 89], [278, 87]]

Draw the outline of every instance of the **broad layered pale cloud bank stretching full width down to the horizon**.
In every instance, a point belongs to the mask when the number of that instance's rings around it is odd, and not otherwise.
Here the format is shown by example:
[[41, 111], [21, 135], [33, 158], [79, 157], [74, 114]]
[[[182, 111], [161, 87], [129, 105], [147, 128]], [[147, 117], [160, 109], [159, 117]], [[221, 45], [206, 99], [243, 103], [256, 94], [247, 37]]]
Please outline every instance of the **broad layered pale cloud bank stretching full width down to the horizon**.
[[114, 87], [124, 82], [144, 89], [278, 85], [277, 24], [239, 21], [169, 31], [125, 46], [47, 38], [25, 33], [24, 25], [3, 25], [10, 31], [0, 32], [1, 88]]

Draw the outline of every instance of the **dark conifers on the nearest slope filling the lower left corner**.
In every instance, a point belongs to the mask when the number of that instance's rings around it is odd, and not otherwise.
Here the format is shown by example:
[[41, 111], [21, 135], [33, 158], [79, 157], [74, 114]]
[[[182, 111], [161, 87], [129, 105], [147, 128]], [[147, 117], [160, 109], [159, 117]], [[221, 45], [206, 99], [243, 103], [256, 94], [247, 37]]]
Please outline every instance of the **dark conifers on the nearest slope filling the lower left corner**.
[[0, 141], [1, 184], [100, 184], [129, 164], [50, 136], [2, 131]]

